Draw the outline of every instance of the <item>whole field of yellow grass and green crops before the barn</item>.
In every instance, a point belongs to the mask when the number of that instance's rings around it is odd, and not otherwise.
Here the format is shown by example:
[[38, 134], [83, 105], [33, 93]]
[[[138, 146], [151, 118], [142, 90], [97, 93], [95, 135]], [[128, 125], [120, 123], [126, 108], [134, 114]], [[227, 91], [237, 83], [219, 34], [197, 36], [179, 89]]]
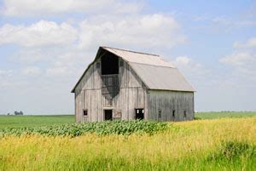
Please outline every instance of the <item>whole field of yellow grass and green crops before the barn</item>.
[[199, 114], [201, 119], [179, 123], [81, 124], [69, 116], [66, 123], [27, 128], [12, 122], [4, 128], [0, 117], [0, 170], [256, 169], [255, 113]]

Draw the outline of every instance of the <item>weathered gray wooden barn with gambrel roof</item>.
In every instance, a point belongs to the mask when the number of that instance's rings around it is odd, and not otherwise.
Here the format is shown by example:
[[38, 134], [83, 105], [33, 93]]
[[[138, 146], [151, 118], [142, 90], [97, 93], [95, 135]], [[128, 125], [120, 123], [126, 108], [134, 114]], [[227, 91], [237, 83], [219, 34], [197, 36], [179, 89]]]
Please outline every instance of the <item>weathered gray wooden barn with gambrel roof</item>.
[[194, 118], [194, 88], [155, 54], [100, 47], [75, 94], [76, 122]]

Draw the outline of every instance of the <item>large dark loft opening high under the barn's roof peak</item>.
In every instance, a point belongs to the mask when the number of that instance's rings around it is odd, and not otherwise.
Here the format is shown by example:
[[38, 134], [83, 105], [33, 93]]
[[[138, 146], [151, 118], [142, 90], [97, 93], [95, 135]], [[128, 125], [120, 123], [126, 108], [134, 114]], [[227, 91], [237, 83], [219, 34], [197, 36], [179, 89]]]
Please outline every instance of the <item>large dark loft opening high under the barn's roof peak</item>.
[[102, 56], [102, 75], [119, 74], [119, 58], [114, 54]]

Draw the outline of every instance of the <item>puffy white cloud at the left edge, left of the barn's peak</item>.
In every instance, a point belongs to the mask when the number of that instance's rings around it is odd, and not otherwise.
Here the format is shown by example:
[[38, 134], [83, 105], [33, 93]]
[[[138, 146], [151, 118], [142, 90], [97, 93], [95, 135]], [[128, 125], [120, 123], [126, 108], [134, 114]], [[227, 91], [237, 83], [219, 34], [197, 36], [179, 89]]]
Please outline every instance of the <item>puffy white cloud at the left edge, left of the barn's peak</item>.
[[0, 28], [0, 45], [16, 43], [25, 47], [70, 44], [77, 38], [77, 30], [63, 22], [40, 20], [30, 26], [5, 24]]

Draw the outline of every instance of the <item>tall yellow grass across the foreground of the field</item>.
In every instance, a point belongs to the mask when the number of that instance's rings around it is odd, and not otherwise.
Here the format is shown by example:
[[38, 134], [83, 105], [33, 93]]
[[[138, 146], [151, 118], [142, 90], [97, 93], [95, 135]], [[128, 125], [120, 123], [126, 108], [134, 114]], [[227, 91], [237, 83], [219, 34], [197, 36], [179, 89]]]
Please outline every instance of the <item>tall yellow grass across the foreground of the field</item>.
[[205, 165], [223, 141], [256, 145], [256, 117], [170, 123], [168, 130], [152, 136], [9, 136], [0, 140], [0, 170], [253, 169], [246, 160]]

